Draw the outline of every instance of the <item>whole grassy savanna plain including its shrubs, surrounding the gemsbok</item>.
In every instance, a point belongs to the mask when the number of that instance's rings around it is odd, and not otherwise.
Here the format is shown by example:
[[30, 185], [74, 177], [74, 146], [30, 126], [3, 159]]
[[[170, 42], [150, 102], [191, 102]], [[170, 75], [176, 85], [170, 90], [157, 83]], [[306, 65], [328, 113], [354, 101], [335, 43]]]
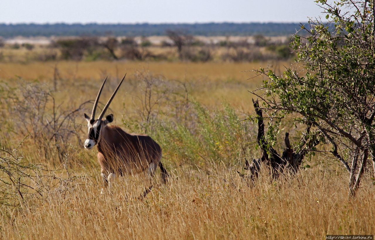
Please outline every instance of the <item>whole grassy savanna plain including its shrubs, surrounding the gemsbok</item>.
[[[248, 70], [290, 61], [0, 63], [1, 239], [325, 239], [374, 234], [374, 183], [348, 197], [344, 168], [329, 155], [305, 158], [296, 176], [249, 183], [237, 174], [258, 158]], [[108, 76], [99, 108], [124, 73], [113, 124], [149, 134], [170, 173], [143, 200], [143, 174], [118, 177], [101, 193], [97, 150], [83, 148], [83, 113]], [[245, 121], [243, 121], [245, 120]], [[282, 133], [300, 129], [285, 122]], [[283, 148], [280, 139], [276, 148]], [[323, 161], [324, 160], [324, 161]], [[9, 169], [9, 168], [7, 168]], [[17, 173], [15, 176], [12, 173]], [[12, 175], [12, 177], [10, 176]]]

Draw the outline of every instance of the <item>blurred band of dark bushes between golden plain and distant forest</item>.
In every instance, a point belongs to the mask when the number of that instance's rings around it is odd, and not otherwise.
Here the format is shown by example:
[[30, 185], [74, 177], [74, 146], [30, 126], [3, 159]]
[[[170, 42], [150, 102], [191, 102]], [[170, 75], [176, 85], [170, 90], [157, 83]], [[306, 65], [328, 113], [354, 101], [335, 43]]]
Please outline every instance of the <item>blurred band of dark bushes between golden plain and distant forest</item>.
[[[154, 45], [148, 37], [57, 37], [49, 45], [39, 46], [39, 51], [32, 51], [30, 43], [6, 44], [0, 37], [1, 49], [27, 49], [24, 60], [55, 61], [96, 61], [96, 60], [167, 60], [207, 62], [211, 60], [231, 62], [251, 62], [268, 60], [287, 60], [294, 56], [288, 42], [273, 40], [263, 35], [243, 37], [231, 41], [227, 36], [219, 42], [204, 42], [198, 37], [182, 30], [168, 30], [168, 39]], [[156, 47], [156, 48], [155, 48]], [[163, 50], [162, 50], [163, 49]], [[0, 61], [20, 60], [18, 54], [0, 51]], [[22, 60], [22, 61], [24, 61]]]

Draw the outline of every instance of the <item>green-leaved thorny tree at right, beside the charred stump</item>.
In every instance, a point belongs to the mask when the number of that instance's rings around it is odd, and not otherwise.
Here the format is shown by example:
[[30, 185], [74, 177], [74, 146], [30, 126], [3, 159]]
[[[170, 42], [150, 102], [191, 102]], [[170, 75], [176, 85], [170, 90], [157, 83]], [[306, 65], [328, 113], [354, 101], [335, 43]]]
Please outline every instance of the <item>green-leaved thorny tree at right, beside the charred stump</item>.
[[271, 69], [257, 70], [267, 80], [253, 93], [263, 100], [271, 119], [267, 142], [274, 143], [283, 118], [311, 125], [307, 137], [327, 144], [348, 171], [354, 196], [366, 169], [375, 177], [375, 4], [316, 2], [328, 22], [302, 25], [291, 43], [296, 62], [282, 76]]

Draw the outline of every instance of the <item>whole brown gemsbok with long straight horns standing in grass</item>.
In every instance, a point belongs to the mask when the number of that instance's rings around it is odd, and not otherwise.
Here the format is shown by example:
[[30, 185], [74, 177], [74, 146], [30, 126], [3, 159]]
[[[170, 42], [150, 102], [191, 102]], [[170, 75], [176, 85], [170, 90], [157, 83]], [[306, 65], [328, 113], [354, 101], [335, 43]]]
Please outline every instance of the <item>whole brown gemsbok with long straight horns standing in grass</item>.
[[[107, 78], [104, 79], [96, 96], [91, 117], [87, 116], [86, 113], [84, 114], [89, 128], [89, 134], [84, 146], [86, 149], [92, 149], [95, 145], [98, 146], [98, 161], [101, 166], [104, 188], [111, 188], [115, 174], [122, 176], [123, 174], [136, 174], [147, 170], [148, 177], [151, 179], [158, 165], [162, 182], [166, 183], [169, 174], [160, 162], [162, 159], [160, 146], [150, 136], [129, 134], [118, 126], [108, 126], [109, 123], [113, 122], [113, 114], [107, 115], [103, 119], [125, 76], [118, 84], [99, 117], [95, 119], [95, 110]], [[148, 194], [151, 188], [152, 185], [146, 188], [143, 197]], [[101, 193], [103, 191], [104, 189], [102, 188]]]

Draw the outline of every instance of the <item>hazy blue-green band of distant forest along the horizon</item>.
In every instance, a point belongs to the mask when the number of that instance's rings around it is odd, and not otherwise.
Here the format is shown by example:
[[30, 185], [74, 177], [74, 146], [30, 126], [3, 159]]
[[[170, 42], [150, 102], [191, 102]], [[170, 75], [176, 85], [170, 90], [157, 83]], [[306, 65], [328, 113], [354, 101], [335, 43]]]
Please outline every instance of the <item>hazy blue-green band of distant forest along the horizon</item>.
[[195, 24], [0, 24], [0, 36], [162, 36], [168, 30], [201, 36], [285, 36], [299, 23], [195, 23]]

